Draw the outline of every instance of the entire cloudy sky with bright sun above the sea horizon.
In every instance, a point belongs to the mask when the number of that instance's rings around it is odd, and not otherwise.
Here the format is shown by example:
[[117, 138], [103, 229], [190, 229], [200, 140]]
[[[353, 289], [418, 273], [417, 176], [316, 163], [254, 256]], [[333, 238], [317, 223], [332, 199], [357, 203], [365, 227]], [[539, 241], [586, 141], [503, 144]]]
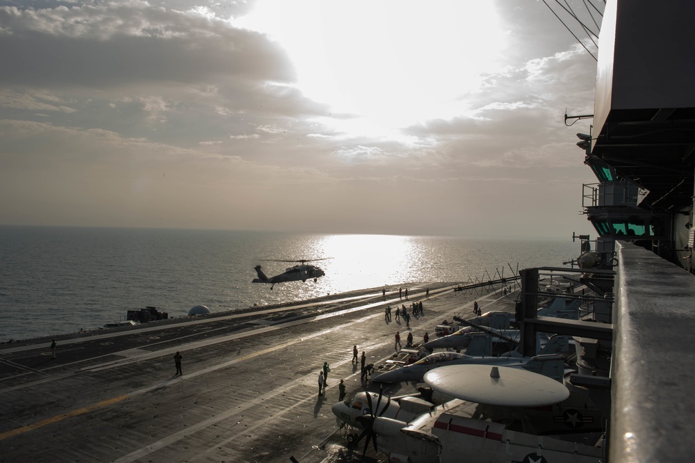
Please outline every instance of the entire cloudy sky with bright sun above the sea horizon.
[[1, 225], [595, 234], [542, 1], [0, 0], [0, 63]]

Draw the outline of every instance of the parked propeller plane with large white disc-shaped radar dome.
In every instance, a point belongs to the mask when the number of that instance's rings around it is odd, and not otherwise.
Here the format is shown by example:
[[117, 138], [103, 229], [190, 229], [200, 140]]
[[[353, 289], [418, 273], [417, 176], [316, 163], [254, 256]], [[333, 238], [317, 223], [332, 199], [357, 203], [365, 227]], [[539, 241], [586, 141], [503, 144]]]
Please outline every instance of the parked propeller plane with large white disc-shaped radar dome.
[[366, 414], [359, 442], [373, 441], [389, 462], [596, 463], [600, 414], [571, 397], [561, 382], [526, 371], [485, 365], [453, 365], [425, 375], [435, 391], [453, 399], [410, 421]]

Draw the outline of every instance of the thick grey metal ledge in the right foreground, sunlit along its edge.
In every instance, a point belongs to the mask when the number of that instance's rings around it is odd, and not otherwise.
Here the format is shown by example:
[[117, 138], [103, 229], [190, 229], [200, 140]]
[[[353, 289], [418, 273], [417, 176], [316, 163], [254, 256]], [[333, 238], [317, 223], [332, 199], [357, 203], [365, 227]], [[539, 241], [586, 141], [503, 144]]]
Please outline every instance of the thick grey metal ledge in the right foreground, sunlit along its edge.
[[616, 243], [611, 462], [685, 462], [695, 453], [695, 279]]

